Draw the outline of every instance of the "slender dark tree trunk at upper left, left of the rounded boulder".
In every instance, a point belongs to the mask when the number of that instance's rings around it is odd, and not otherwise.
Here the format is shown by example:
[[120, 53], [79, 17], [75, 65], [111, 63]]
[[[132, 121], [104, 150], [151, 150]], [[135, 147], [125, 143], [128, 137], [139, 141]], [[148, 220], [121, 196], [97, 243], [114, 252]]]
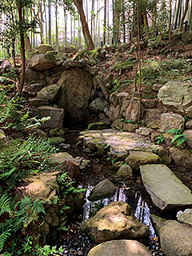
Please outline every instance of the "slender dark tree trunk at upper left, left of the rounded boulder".
[[[22, 23], [22, 6], [18, 6], [18, 18], [19, 22]], [[26, 57], [25, 57], [25, 41], [24, 41], [24, 33], [20, 30], [20, 40], [21, 40], [21, 58], [22, 58], [22, 75], [18, 86], [18, 93], [22, 92], [22, 88], [24, 86], [25, 74], [26, 74]]]

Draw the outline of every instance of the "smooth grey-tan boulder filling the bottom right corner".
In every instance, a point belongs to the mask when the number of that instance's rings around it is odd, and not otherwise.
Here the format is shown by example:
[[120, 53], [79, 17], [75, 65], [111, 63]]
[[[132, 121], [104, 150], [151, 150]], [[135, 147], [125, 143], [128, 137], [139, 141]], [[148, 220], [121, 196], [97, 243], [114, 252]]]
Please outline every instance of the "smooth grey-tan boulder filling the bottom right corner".
[[150, 218], [158, 231], [164, 254], [169, 256], [192, 255], [192, 229], [177, 221], [167, 221], [155, 215], [151, 215]]

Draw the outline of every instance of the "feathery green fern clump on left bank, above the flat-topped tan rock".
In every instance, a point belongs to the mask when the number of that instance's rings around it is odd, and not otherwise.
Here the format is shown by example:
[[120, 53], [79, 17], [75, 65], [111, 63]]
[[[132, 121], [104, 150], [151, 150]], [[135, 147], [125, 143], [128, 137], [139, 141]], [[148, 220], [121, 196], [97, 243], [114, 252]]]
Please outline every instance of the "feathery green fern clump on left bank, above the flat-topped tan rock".
[[14, 140], [0, 152], [0, 182], [6, 181], [11, 186], [30, 173], [46, 170], [49, 156], [55, 152], [45, 138], [27, 138]]

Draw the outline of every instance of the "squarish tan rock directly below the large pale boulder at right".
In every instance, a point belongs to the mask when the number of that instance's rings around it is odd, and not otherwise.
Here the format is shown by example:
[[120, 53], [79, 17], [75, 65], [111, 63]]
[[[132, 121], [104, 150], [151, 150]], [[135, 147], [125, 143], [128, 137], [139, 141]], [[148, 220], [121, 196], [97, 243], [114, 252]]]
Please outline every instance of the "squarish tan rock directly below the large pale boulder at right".
[[160, 118], [160, 133], [166, 133], [167, 130], [174, 128], [177, 129], [184, 129], [185, 125], [185, 118], [182, 117], [181, 114], [170, 114], [170, 113], [163, 113], [161, 114]]

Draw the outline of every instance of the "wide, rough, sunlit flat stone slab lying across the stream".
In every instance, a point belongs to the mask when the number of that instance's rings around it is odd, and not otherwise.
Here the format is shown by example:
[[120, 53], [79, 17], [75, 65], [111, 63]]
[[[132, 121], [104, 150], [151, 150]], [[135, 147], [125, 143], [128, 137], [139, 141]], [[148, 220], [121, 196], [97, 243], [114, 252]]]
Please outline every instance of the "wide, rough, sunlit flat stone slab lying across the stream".
[[92, 142], [94, 145], [108, 145], [110, 146], [111, 151], [116, 152], [138, 150], [156, 153], [160, 148], [160, 146], [151, 142], [150, 139], [144, 138], [139, 134], [112, 129], [82, 131], [79, 139], [83, 141], [84, 145], [88, 142]]

